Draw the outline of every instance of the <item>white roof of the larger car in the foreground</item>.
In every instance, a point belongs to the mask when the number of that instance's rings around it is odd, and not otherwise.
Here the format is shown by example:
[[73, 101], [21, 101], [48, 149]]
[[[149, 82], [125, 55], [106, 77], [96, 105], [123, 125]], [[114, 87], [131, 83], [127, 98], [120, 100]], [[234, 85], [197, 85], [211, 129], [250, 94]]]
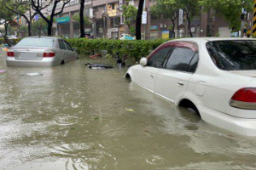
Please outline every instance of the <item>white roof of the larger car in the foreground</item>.
[[206, 42], [215, 42], [215, 41], [231, 41], [231, 40], [247, 40], [247, 41], [256, 41], [256, 38], [249, 38], [249, 37], [189, 37], [189, 38], [180, 38], [171, 40], [169, 42], [175, 41], [188, 41], [188, 42], [199, 42], [199, 43], [206, 43]]

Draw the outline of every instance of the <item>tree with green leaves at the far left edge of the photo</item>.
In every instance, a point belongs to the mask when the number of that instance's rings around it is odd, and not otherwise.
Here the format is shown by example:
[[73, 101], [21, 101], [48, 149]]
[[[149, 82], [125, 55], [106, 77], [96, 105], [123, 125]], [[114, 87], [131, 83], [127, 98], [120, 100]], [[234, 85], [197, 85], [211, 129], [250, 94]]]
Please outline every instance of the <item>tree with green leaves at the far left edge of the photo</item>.
[[[3, 1], [0, 3], [3, 4]], [[9, 46], [11, 46], [9, 39], [7, 37], [8, 35], [8, 27], [10, 22], [13, 20], [13, 13], [11, 11], [9, 11], [7, 8], [1, 8], [0, 10], [0, 25], [4, 26], [4, 31], [0, 30], [0, 33], [2, 34], [5, 42], [7, 42], [9, 44]]]

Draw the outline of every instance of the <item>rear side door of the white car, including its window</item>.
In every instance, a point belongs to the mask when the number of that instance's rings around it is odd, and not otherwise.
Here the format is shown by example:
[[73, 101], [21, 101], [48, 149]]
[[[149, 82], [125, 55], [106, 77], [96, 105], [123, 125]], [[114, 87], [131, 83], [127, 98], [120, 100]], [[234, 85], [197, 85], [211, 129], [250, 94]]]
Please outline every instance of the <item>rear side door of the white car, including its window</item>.
[[197, 62], [198, 52], [195, 44], [176, 42], [172, 54], [166, 61], [165, 68], [161, 69], [156, 76], [156, 94], [175, 103], [185, 94], [189, 78], [195, 71]]

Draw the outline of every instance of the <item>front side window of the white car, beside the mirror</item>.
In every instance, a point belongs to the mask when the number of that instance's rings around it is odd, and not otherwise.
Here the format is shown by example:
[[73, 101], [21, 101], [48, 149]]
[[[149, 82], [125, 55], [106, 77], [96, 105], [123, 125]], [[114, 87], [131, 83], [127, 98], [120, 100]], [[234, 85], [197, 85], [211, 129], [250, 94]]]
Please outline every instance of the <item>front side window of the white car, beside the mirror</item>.
[[162, 68], [164, 62], [166, 61], [166, 57], [169, 54], [169, 52], [172, 50], [172, 47], [166, 47], [160, 49], [156, 54], [152, 55], [148, 59], [148, 66], [153, 66], [156, 68]]

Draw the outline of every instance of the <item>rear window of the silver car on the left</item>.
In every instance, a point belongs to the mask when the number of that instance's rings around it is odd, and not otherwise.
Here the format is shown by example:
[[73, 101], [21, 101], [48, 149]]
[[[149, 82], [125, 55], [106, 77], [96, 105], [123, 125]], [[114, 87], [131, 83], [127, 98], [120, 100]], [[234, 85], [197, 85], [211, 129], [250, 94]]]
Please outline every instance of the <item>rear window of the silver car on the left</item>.
[[18, 42], [15, 47], [45, 47], [52, 48], [54, 44], [53, 38], [24, 38]]

